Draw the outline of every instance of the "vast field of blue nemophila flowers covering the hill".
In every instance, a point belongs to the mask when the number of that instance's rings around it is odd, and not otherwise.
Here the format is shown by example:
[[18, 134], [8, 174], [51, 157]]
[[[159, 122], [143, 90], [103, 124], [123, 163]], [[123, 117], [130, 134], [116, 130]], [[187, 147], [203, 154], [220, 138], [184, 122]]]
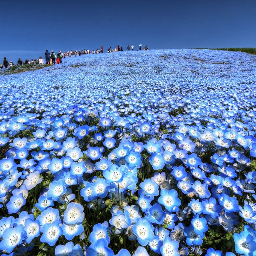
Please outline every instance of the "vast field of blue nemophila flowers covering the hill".
[[1, 73], [1, 255], [255, 256], [255, 99], [242, 52]]

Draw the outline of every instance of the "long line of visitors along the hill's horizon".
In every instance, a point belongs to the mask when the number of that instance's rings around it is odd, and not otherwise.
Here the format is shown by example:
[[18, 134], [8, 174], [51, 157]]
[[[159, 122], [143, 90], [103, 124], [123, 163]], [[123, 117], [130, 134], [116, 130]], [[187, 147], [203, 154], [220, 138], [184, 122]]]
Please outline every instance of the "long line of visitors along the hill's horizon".
[[[127, 50], [130, 51], [130, 49], [133, 51], [134, 50], [134, 45], [132, 44], [131, 47], [128, 45], [127, 46]], [[43, 65], [43, 64], [48, 64], [48, 65], [54, 65], [54, 64], [61, 64], [62, 63], [62, 59], [66, 58], [66, 56], [68, 57], [72, 57], [72, 55], [76, 56], [76, 55], [83, 55], [83, 54], [97, 54], [97, 53], [103, 53], [104, 47], [102, 46], [100, 49], [96, 49], [96, 50], [92, 50], [92, 52], [90, 52], [89, 49], [84, 49], [84, 50], [76, 50], [76, 51], [67, 51], [67, 52], [62, 52], [59, 51], [57, 54], [54, 51], [49, 52], [48, 50], [45, 51], [45, 62], [44, 59], [40, 56], [38, 59], [31, 59], [30, 61], [28, 59], [25, 60], [25, 62], [23, 62], [20, 58], [18, 58], [17, 64], [19, 66], [23, 66], [26, 64], [39, 64], [39, 65]], [[139, 50], [142, 50], [142, 45], [139, 45]], [[148, 50], [147, 45], [145, 47], [143, 47], [143, 50]], [[112, 49], [111, 47], [108, 48], [108, 52], [122, 52], [123, 48], [119, 46], [119, 44], [117, 45], [116, 48]], [[3, 58], [3, 64], [0, 63], [0, 69], [3, 69], [3, 67], [8, 68], [8, 67], [14, 67], [15, 64], [10, 61], [8, 62], [6, 57]]]

